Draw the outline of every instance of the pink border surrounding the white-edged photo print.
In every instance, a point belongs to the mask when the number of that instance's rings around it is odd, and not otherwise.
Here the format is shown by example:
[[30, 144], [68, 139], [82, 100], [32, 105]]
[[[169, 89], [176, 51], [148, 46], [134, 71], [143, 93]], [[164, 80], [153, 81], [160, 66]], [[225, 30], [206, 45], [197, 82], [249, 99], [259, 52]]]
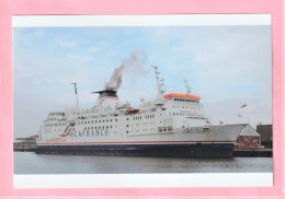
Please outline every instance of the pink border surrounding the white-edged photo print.
[[[0, 0], [0, 198], [285, 198], [282, 0]], [[12, 15], [270, 13], [273, 35], [274, 186], [244, 188], [13, 188]], [[244, 179], [247, 180], [247, 179]]]

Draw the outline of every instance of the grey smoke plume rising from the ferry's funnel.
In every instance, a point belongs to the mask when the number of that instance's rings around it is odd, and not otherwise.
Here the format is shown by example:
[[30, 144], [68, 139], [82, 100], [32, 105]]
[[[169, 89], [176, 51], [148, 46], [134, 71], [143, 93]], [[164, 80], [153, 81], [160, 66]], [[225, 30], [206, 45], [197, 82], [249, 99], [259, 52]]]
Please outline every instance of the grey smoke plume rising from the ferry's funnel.
[[122, 65], [114, 69], [111, 79], [105, 82], [105, 90], [117, 90], [122, 84], [122, 74], [125, 70], [130, 69], [135, 75], [139, 72], [144, 73], [144, 65], [147, 61], [147, 55], [144, 50], [136, 50], [129, 52], [130, 57], [124, 59]]

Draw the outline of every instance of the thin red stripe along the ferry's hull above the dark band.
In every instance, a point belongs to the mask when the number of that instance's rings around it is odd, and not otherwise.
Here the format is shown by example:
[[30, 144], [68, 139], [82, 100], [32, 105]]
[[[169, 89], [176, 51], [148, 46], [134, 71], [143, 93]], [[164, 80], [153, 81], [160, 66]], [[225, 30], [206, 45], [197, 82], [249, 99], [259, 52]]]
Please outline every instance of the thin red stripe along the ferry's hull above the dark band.
[[88, 144], [168, 144], [168, 143], [236, 143], [232, 140], [220, 140], [220, 141], [146, 141], [146, 142], [72, 142], [72, 143], [37, 143], [37, 145], [88, 145]]

